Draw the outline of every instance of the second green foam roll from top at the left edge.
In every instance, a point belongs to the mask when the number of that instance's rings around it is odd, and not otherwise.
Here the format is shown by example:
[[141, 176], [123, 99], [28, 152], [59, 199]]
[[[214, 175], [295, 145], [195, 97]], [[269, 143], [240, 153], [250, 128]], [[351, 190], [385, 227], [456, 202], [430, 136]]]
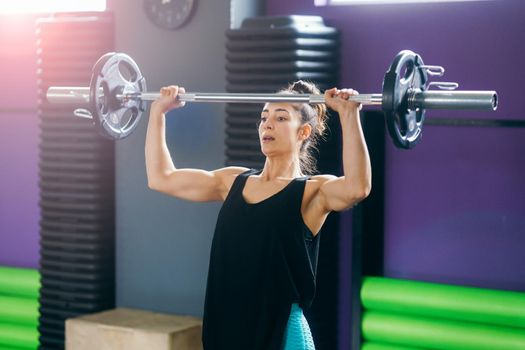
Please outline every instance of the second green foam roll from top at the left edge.
[[38, 300], [0, 295], [0, 323], [38, 327]]

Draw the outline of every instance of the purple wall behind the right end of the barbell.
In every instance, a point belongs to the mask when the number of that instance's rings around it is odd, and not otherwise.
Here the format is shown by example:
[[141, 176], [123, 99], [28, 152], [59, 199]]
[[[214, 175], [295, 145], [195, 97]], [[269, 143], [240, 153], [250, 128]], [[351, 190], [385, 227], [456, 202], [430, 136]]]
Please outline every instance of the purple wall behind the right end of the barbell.
[[[395, 54], [411, 49], [425, 63], [443, 65], [443, 81], [459, 82], [464, 90], [496, 90], [500, 97], [495, 113], [427, 111], [427, 118], [525, 119], [525, 1], [313, 3], [267, 0], [267, 14], [319, 15], [339, 28], [343, 86], [380, 92]], [[385, 274], [525, 291], [525, 130], [427, 125], [414, 150], [387, 144]], [[350, 232], [350, 220], [345, 222]], [[341, 255], [343, 297], [349, 290], [347, 254]], [[342, 327], [348, 329], [348, 322], [348, 314], [340, 315]], [[340, 348], [346, 349], [348, 335], [340, 333]]]

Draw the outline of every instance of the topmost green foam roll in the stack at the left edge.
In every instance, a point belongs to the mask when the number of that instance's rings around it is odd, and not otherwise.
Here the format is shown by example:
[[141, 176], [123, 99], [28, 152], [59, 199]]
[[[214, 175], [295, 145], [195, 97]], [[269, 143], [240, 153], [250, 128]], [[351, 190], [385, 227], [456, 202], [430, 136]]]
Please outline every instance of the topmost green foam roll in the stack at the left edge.
[[0, 266], [0, 295], [38, 298], [40, 274], [36, 269]]

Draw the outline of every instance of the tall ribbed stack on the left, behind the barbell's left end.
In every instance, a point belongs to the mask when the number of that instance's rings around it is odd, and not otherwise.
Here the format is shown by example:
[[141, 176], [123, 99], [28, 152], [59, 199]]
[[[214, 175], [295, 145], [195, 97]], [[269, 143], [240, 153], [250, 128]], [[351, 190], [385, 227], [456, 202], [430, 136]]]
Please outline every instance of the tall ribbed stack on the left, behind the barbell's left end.
[[113, 49], [106, 13], [61, 14], [36, 25], [40, 117], [40, 348], [64, 348], [64, 321], [114, 306], [114, 144], [78, 107], [51, 105], [49, 86], [89, 86]]

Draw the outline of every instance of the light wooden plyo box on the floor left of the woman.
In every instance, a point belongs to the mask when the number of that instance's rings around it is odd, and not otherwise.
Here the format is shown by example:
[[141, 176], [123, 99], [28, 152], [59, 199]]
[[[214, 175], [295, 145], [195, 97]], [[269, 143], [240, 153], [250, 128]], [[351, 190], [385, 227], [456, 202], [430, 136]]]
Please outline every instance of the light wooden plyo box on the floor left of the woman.
[[67, 350], [201, 350], [202, 321], [118, 308], [66, 320]]

